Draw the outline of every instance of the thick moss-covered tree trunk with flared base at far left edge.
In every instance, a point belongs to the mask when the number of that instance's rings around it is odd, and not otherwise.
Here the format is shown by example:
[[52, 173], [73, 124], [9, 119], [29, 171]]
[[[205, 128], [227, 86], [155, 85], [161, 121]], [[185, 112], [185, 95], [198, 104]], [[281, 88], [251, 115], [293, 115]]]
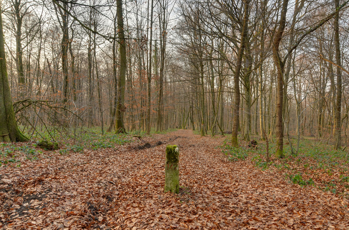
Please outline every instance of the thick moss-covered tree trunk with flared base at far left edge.
[[[1, 12], [1, 6], [0, 6]], [[8, 84], [5, 48], [0, 14], [0, 142], [28, 141], [17, 126]]]

